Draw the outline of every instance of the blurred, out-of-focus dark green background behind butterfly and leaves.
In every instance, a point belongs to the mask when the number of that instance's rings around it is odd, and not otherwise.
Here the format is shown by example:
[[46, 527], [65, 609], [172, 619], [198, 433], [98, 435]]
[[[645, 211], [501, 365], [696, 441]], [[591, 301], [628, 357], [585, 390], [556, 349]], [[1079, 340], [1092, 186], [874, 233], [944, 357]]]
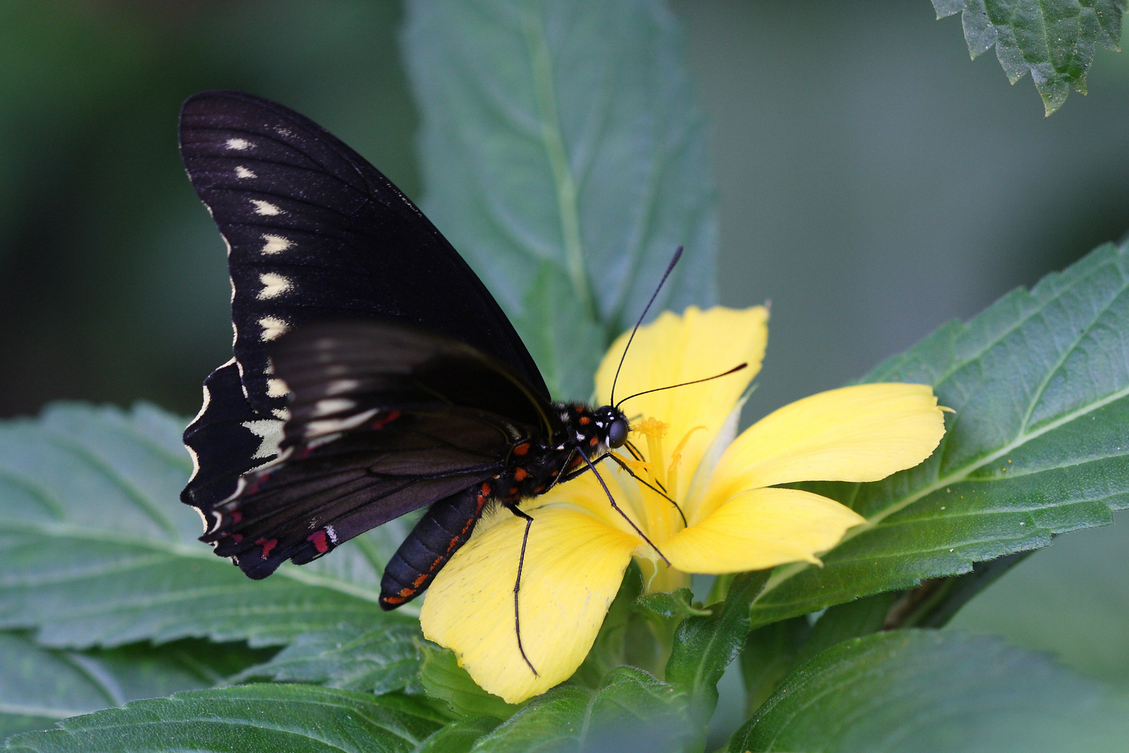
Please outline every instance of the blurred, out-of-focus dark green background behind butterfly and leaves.
[[[1129, 56], [1044, 120], [928, 0], [682, 0], [714, 128], [721, 301], [772, 300], [750, 418], [838, 386], [1129, 229]], [[410, 196], [417, 114], [388, 0], [0, 1], [0, 415], [55, 399], [183, 414], [229, 357], [224, 246], [181, 100], [278, 99]], [[443, 228], [440, 228], [443, 229]], [[1129, 534], [1023, 562], [961, 627], [1129, 683]]]

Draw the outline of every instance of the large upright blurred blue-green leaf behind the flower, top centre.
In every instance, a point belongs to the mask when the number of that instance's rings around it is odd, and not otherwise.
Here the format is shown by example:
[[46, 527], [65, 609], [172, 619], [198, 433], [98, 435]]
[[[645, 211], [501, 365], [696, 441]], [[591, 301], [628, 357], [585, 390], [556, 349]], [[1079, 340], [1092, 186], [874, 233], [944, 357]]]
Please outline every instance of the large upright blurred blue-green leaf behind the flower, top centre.
[[[664, 2], [427, 0], [406, 14], [423, 207], [531, 350], [581, 334], [594, 348], [555, 351], [558, 388], [590, 387], [606, 340], [586, 333], [629, 326], [677, 246], [655, 310], [714, 301], [706, 125]], [[544, 318], [555, 304], [530, 306], [545, 274], [569, 288], [564, 321]]]

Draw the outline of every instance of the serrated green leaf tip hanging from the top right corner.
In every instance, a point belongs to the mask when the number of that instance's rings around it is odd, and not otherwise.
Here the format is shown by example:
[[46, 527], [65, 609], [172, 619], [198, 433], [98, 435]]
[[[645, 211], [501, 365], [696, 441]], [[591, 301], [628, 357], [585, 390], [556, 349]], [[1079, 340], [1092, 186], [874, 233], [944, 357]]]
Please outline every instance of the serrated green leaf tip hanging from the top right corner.
[[1073, 86], [1086, 94], [1094, 45], [1120, 50], [1126, 0], [933, 0], [937, 18], [957, 11], [969, 54], [996, 46], [1007, 79], [1031, 72], [1050, 115], [1066, 103]]

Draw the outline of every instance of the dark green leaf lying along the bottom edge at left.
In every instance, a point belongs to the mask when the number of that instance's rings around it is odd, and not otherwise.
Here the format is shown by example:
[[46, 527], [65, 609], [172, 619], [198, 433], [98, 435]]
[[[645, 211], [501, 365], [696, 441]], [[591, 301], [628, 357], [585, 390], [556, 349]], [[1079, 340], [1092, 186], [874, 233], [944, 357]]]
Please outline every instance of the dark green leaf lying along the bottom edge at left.
[[73, 717], [56, 729], [17, 735], [8, 747], [37, 753], [409, 753], [445, 721], [403, 697], [316, 685], [242, 685]]

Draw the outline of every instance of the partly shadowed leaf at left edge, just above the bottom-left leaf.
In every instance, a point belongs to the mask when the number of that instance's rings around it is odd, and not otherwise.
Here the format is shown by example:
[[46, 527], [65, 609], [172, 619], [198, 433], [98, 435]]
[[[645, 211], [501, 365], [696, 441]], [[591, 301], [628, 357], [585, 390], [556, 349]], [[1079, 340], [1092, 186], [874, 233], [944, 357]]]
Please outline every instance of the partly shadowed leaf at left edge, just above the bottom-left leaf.
[[139, 698], [210, 688], [262, 655], [196, 640], [69, 651], [0, 632], [0, 738]]

